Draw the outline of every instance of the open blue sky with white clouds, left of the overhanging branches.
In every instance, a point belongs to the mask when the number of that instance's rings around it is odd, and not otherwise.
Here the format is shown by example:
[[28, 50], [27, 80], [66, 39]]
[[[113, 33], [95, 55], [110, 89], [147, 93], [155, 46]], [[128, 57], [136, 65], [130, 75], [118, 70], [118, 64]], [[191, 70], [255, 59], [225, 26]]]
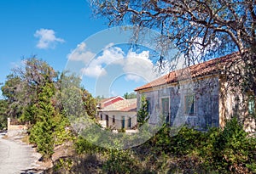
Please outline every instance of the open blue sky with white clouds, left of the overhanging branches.
[[0, 82], [34, 54], [59, 71], [82, 65], [73, 70], [94, 96], [123, 95], [153, 79], [147, 67], [141, 68], [152, 65], [151, 52], [116, 45], [123, 34], [117, 40], [115, 31], [109, 34], [108, 21], [93, 18], [86, 0], [1, 0], [0, 23]]

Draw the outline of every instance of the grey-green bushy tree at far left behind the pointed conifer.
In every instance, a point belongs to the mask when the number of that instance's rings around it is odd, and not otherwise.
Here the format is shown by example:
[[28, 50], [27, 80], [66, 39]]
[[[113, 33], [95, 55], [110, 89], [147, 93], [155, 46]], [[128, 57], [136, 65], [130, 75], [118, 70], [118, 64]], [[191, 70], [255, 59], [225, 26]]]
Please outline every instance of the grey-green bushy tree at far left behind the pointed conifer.
[[15, 69], [7, 76], [3, 87], [3, 96], [7, 98], [9, 117], [36, 123], [32, 110], [38, 107], [39, 93], [47, 83], [55, 83], [57, 73], [46, 62], [32, 57], [24, 61], [24, 68]]

